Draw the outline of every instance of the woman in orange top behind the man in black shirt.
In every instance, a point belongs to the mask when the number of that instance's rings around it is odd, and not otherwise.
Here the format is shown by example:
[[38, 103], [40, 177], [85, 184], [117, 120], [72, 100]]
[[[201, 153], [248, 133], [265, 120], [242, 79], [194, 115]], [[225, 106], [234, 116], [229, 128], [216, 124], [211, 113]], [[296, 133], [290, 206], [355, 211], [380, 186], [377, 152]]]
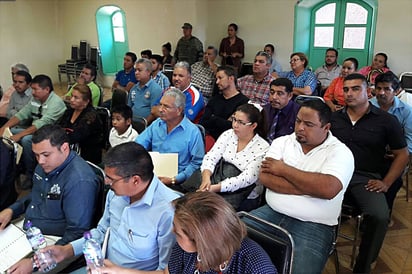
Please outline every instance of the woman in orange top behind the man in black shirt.
[[346, 58], [342, 64], [340, 76], [333, 79], [326, 89], [323, 99], [332, 111], [342, 109], [346, 103], [343, 98], [343, 79], [358, 69], [358, 60], [356, 58]]

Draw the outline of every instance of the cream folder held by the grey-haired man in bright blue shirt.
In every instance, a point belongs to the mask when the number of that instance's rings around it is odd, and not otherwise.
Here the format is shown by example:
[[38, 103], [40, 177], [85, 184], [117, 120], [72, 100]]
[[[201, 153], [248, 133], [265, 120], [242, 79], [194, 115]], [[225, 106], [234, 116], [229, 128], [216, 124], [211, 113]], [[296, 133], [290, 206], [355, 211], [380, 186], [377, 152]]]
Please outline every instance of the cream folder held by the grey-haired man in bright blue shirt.
[[154, 173], [158, 177], [172, 178], [177, 174], [178, 154], [149, 152], [154, 165]]

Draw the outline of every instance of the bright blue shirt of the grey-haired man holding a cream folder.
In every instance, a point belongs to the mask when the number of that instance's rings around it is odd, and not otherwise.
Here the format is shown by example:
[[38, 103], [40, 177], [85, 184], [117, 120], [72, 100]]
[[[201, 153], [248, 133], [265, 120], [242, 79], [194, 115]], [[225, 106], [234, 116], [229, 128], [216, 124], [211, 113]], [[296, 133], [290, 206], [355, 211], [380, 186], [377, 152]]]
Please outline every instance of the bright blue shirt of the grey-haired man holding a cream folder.
[[176, 181], [184, 182], [200, 168], [205, 145], [199, 128], [186, 116], [172, 131], [167, 133], [167, 124], [158, 118], [136, 138], [148, 151], [178, 153], [178, 174]]

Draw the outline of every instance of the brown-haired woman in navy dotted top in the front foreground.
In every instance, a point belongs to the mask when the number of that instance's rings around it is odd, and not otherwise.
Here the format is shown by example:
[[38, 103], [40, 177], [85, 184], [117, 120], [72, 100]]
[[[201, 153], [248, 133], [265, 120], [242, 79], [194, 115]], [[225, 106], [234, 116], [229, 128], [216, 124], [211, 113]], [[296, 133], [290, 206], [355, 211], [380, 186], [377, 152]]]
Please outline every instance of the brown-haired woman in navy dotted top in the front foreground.
[[177, 243], [164, 271], [128, 270], [105, 260], [101, 273], [277, 273], [266, 252], [246, 237], [245, 224], [225, 200], [194, 192], [173, 201]]

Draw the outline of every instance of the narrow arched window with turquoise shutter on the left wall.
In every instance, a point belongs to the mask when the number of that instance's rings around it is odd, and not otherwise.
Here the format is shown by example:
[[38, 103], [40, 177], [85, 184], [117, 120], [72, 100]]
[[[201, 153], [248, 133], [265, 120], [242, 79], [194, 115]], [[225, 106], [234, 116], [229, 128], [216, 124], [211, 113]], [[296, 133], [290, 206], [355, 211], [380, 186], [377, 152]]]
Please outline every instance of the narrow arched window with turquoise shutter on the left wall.
[[96, 25], [103, 73], [116, 73], [123, 69], [123, 57], [129, 51], [125, 13], [113, 5], [100, 7]]

